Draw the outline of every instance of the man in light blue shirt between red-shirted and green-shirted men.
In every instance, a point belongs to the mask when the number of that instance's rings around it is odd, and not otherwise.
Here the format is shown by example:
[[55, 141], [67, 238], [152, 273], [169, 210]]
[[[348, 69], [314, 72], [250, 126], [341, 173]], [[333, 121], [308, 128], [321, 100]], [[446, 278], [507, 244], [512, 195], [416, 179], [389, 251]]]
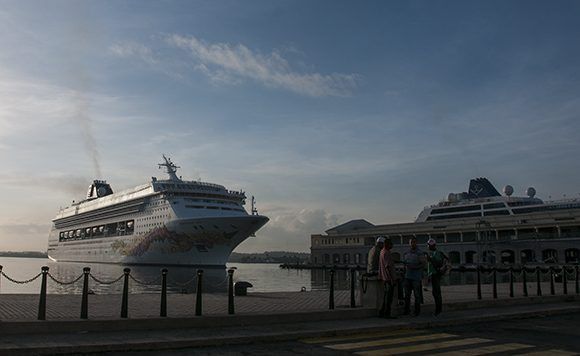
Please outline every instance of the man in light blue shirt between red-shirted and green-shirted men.
[[411, 292], [415, 298], [415, 312], [418, 316], [421, 313], [421, 303], [423, 302], [423, 291], [421, 290], [421, 279], [425, 268], [425, 254], [417, 247], [417, 239], [413, 236], [409, 239], [409, 251], [403, 256], [405, 264], [405, 315], [411, 310]]

